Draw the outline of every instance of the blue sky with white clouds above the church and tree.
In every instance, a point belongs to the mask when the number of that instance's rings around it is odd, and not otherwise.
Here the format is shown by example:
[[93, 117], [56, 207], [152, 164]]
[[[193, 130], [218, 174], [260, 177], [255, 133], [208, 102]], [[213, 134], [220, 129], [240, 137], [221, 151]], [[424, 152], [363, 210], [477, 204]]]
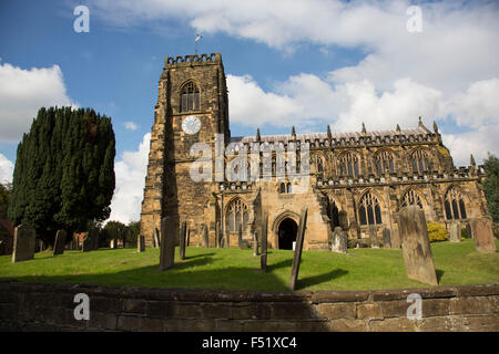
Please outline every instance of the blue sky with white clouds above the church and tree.
[[[89, 33], [73, 30], [79, 4]], [[421, 31], [407, 28], [411, 6]], [[113, 119], [113, 202], [130, 206], [113, 217], [136, 219], [163, 61], [194, 53], [196, 33], [200, 53], [222, 53], [234, 136], [413, 127], [421, 115], [456, 165], [480, 162], [499, 150], [498, 20], [495, 1], [4, 0], [0, 179], [40, 105], [90, 106]]]

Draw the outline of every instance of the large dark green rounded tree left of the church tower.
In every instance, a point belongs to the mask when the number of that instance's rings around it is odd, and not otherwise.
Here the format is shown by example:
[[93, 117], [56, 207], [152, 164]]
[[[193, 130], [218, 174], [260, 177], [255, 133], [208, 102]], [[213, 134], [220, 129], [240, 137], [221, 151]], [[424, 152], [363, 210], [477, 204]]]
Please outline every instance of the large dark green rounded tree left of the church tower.
[[111, 118], [91, 108], [40, 108], [18, 146], [9, 219], [29, 225], [45, 244], [58, 229], [85, 231], [109, 218], [114, 192]]

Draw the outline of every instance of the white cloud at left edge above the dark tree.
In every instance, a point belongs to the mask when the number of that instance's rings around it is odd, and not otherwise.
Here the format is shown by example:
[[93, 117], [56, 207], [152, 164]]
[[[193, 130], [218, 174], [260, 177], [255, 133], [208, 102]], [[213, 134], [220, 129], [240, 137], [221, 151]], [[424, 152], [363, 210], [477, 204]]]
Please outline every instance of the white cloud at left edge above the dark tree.
[[72, 105], [59, 65], [30, 70], [0, 65], [0, 142], [19, 142], [38, 110], [54, 105]]

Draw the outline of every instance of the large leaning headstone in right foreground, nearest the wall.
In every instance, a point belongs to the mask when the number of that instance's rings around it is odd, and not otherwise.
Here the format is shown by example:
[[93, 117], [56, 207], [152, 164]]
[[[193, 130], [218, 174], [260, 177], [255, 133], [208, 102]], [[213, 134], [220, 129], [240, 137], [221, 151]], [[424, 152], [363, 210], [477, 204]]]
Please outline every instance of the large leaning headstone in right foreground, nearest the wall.
[[425, 212], [415, 205], [401, 208], [399, 227], [407, 278], [438, 285]]

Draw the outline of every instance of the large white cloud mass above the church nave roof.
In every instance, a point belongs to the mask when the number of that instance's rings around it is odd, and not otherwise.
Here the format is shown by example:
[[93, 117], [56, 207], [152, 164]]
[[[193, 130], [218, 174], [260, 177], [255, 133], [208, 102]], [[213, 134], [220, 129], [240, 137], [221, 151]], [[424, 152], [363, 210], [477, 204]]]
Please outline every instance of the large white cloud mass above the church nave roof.
[[[320, 51], [353, 48], [355, 64], [324, 77], [302, 73], [264, 91], [251, 76], [227, 76], [231, 121], [257, 126], [330, 123], [342, 131], [415, 126], [447, 119], [444, 132], [457, 164], [497, 154], [499, 127], [499, 7], [495, 2], [418, 3], [422, 32], [409, 33], [413, 1], [252, 0], [94, 2], [119, 25], [187, 21], [197, 33], [224, 33], [289, 53], [304, 42]], [[153, 24], [154, 23], [154, 24]], [[194, 32], [194, 31], [193, 31]], [[314, 50], [314, 46], [308, 46]], [[334, 55], [334, 53], [333, 53]], [[262, 63], [265, 59], [262, 58]], [[324, 121], [324, 122], [323, 122]], [[263, 132], [264, 133], [264, 132]]]

